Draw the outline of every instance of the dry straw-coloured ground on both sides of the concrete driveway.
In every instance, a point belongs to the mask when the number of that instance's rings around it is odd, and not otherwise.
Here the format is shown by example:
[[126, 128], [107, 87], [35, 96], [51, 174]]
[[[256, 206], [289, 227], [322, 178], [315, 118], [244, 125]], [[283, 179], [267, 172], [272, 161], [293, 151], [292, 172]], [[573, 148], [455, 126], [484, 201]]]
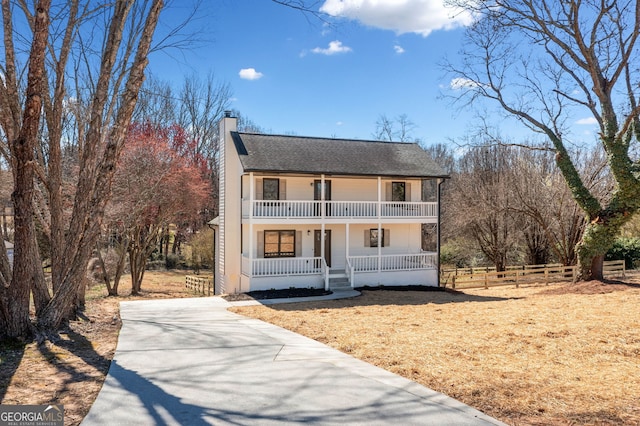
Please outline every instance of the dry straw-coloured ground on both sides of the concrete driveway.
[[[128, 293], [128, 283], [122, 293]], [[136, 299], [192, 297], [148, 272]], [[0, 346], [0, 403], [65, 406], [77, 425], [115, 351], [118, 302], [90, 291], [61, 340]], [[582, 283], [451, 292], [366, 291], [234, 308], [457, 398], [511, 425], [640, 424], [640, 286]]]

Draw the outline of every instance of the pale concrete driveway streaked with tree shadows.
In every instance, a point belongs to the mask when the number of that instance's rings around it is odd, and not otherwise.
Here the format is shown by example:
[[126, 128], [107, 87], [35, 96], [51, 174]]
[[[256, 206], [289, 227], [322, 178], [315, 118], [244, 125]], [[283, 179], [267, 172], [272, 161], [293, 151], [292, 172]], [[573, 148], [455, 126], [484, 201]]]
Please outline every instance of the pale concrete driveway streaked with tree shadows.
[[218, 297], [123, 302], [111, 368], [82, 424], [502, 424], [230, 305]]

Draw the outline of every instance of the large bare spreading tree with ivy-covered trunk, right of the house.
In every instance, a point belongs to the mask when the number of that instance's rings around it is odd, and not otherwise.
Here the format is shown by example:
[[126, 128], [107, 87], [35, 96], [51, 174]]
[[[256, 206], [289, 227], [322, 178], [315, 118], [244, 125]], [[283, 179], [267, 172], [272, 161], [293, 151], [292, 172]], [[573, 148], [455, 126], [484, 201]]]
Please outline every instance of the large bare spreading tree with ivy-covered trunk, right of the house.
[[[581, 278], [602, 278], [602, 261], [621, 226], [640, 207], [633, 149], [640, 135], [640, 2], [451, 0], [477, 17], [460, 65], [450, 64], [460, 99], [495, 102], [544, 135], [588, 222], [577, 245]], [[570, 122], [585, 114], [615, 180], [607, 200], [585, 183], [568, 149]]]

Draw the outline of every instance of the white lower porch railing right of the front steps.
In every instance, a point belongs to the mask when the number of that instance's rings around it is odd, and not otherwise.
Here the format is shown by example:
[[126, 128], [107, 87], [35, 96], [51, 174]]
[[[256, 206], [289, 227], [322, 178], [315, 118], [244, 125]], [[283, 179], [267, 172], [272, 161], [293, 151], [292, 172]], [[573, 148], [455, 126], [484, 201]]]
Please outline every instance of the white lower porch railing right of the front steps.
[[437, 268], [435, 253], [349, 256], [353, 272], [410, 271]]

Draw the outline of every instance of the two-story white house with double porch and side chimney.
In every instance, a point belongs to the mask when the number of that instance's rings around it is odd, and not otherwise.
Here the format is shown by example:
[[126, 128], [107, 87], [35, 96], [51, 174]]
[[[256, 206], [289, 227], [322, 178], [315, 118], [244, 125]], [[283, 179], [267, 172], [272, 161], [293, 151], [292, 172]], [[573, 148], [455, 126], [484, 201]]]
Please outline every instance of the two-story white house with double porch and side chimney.
[[439, 284], [447, 176], [417, 144], [220, 132], [216, 294]]

